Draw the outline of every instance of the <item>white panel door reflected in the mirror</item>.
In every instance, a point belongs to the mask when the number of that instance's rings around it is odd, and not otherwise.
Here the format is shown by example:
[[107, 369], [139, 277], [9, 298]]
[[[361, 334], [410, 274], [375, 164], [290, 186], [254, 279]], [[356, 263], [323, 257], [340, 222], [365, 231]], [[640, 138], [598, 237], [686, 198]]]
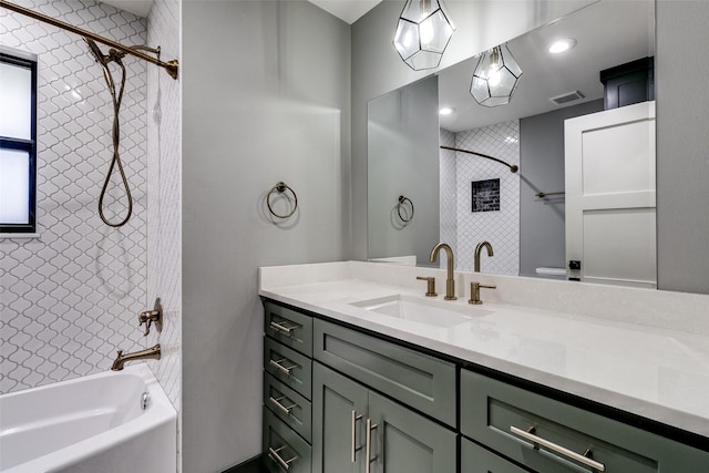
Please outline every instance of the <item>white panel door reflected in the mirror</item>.
[[655, 102], [565, 122], [569, 278], [657, 287]]

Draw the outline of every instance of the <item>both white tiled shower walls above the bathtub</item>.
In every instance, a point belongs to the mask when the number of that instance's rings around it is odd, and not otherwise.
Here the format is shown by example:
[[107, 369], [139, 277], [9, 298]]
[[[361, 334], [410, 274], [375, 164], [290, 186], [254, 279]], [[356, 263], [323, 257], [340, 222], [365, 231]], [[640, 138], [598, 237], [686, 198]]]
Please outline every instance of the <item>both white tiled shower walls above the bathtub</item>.
[[[161, 45], [178, 56], [179, 3], [156, 1], [147, 19], [93, 0], [17, 3], [117, 42]], [[160, 341], [151, 362], [179, 409], [179, 85], [124, 59], [121, 158], [133, 216], [104, 225], [97, 198], [113, 153], [113, 107], [101, 68], [80, 37], [0, 9], [0, 44], [38, 54], [38, 235], [0, 239], [0, 393], [110, 368], [117, 349]], [[107, 48], [102, 47], [107, 50]], [[120, 72], [114, 71], [120, 81]], [[114, 172], [106, 214], [125, 197]], [[137, 312], [160, 296], [162, 333], [144, 338]]]

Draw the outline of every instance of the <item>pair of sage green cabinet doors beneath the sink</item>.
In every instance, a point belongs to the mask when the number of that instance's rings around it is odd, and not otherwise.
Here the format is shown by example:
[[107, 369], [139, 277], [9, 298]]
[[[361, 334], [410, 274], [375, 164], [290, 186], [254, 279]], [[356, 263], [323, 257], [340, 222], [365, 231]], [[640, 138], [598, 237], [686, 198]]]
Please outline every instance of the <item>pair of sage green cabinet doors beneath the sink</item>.
[[314, 473], [456, 472], [453, 431], [318, 362], [312, 383]]

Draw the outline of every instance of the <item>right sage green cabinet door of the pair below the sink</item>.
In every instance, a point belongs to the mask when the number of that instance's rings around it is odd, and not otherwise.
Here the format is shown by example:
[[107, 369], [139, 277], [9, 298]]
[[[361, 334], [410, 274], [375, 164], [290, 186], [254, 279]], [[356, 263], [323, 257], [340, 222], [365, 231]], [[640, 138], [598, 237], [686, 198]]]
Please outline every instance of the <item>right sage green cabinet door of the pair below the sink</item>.
[[369, 418], [372, 473], [455, 473], [452, 431], [372, 391]]

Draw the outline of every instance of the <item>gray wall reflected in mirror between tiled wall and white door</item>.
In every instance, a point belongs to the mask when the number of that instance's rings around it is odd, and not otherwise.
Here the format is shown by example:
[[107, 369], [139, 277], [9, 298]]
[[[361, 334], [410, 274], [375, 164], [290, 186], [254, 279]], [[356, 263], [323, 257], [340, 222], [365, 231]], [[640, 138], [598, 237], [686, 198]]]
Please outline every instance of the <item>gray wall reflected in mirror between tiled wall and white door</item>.
[[564, 120], [603, 110], [603, 99], [520, 120], [520, 276], [566, 267]]

